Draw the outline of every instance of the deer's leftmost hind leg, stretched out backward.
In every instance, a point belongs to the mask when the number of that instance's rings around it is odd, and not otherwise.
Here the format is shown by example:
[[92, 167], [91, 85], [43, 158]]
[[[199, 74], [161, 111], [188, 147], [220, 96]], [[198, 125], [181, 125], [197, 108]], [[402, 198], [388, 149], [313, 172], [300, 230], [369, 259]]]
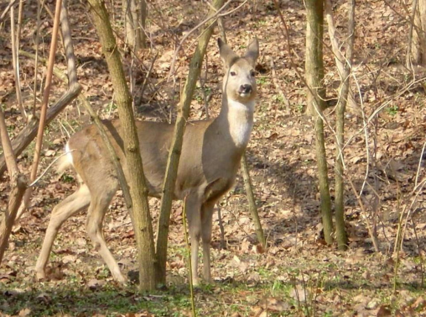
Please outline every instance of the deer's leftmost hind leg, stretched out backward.
[[52, 215], [47, 226], [45, 239], [43, 246], [41, 247], [40, 255], [38, 255], [36, 263], [36, 277], [37, 279], [44, 279], [46, 277], [45, 268], [47, 261], [49, 260], [50, 252], [52, 251], [52, 245], [56, 234], [60, 226], [67, 220], [71, 215], [75, 215], [82, 209], [85, 209], [90, 203], [90, 192], [87, 185], [82, 184], [80, 188], [68, 196], [54, 207]]

